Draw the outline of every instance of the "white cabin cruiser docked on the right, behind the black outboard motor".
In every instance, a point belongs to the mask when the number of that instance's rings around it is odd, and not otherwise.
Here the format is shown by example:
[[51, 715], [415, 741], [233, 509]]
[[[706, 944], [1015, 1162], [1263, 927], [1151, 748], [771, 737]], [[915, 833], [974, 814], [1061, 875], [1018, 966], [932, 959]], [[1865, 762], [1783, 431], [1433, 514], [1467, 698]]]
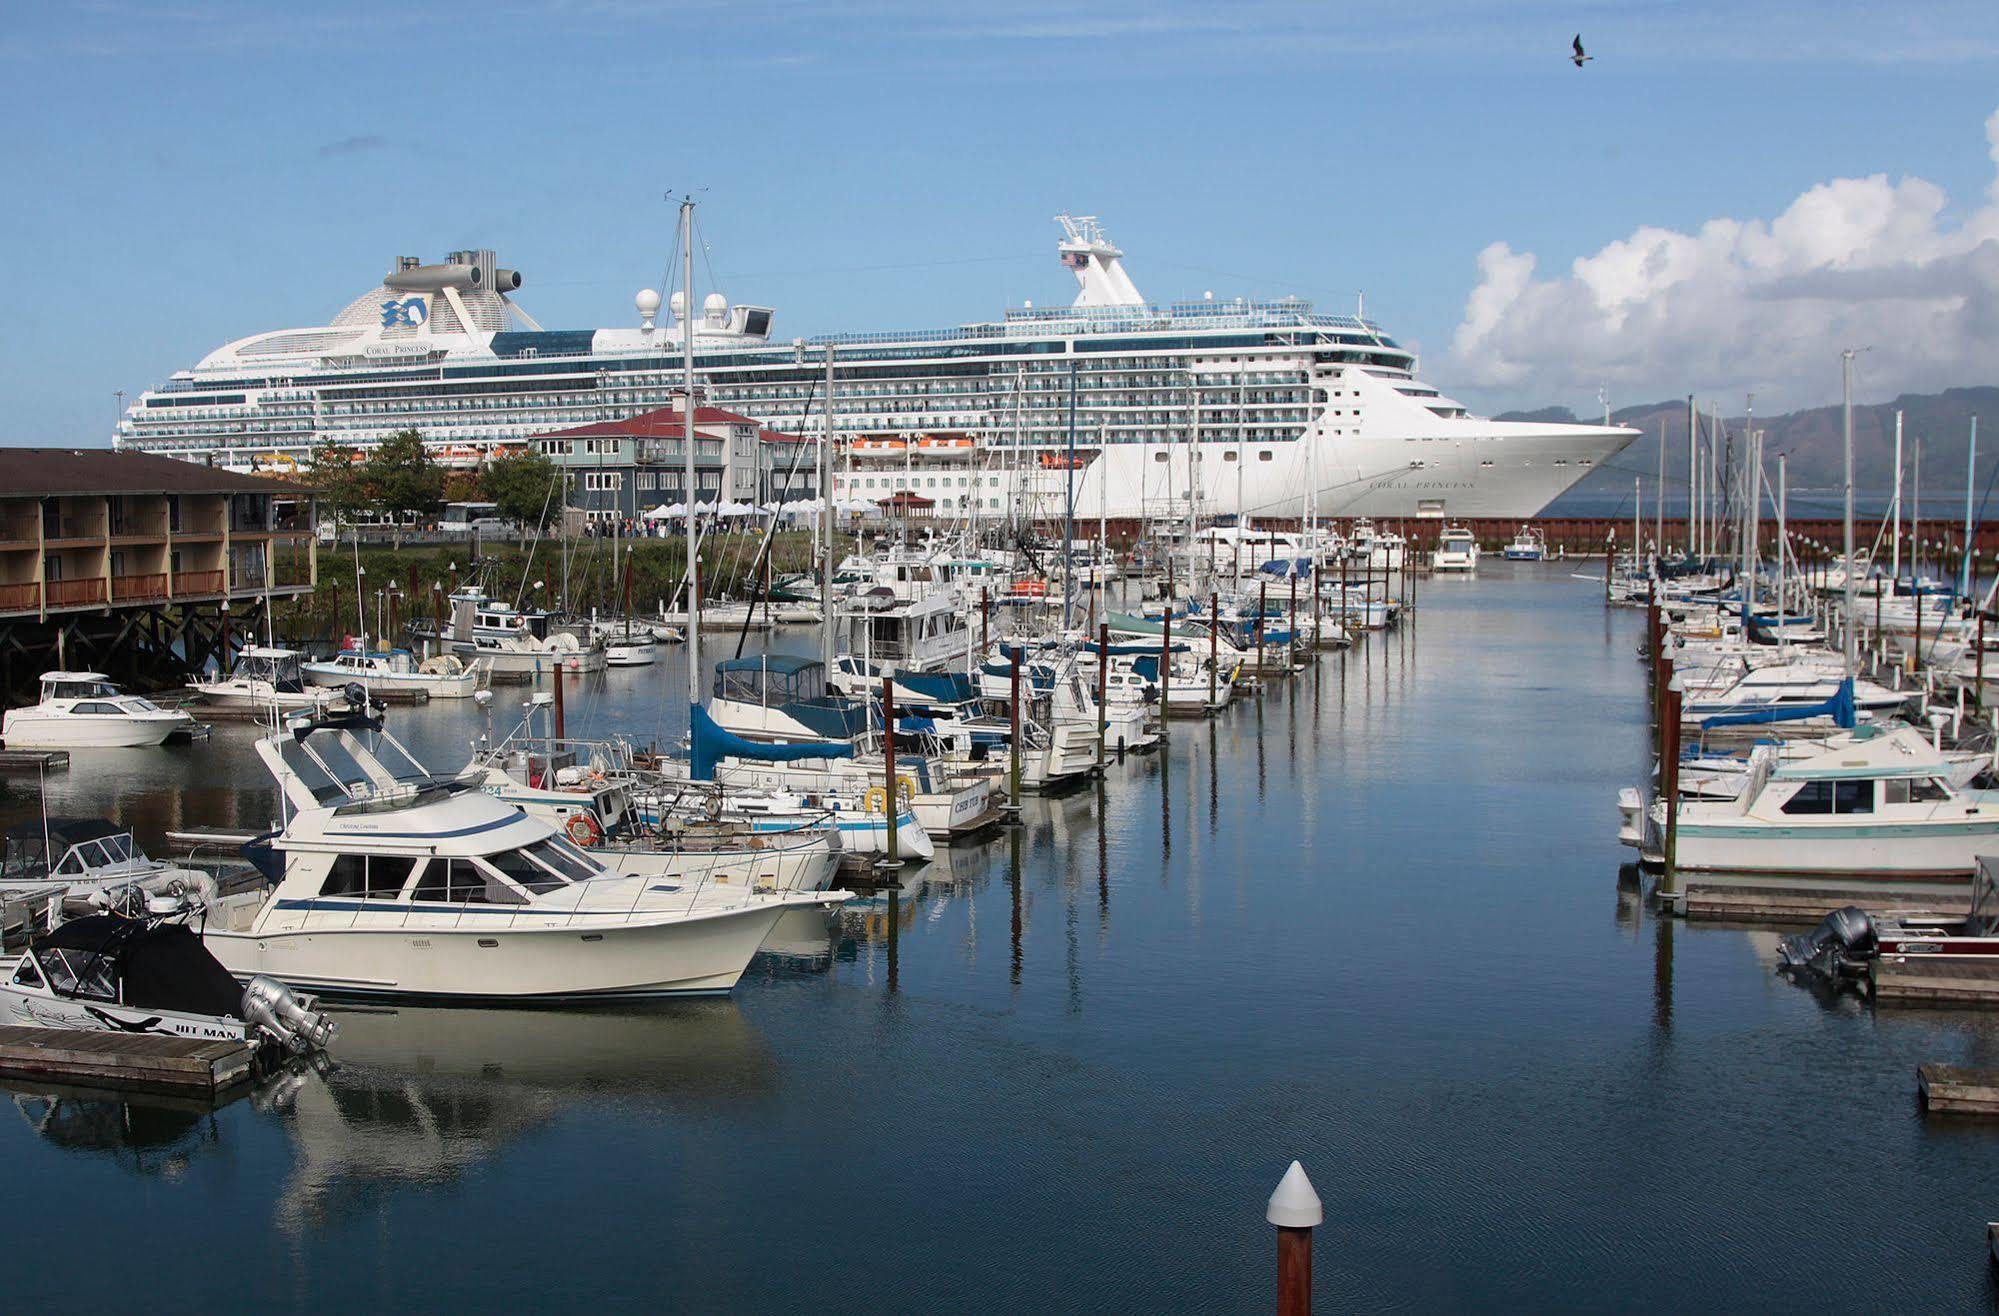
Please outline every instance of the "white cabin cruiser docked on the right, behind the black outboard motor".
[[[1999, 792], [1951, 782], [1953, 764], [1909, 726], [1861, 726], [1809, 750], [1759, 744], [1731, 798], [1681, 798], [1689, 872], [1969, 876], [1999, 850]], [[1663, 848], [1665, 800], [1641, 836]]]

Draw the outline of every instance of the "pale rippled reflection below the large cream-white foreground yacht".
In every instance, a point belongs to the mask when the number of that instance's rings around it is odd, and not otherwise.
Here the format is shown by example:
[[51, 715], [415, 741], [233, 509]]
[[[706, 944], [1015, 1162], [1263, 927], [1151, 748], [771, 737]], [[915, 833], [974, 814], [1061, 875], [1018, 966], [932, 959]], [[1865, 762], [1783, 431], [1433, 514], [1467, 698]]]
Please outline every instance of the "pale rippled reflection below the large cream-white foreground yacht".
[[382, 1186], [448, 1184], [568, 1106], [618, 1098], [740, 1114], [778, 1088], [762, 1034], [726, 1000], [338, 1018], [340, 1066], [308, 1078], [288, 1110], [288, 1228], [338, 1220]]

